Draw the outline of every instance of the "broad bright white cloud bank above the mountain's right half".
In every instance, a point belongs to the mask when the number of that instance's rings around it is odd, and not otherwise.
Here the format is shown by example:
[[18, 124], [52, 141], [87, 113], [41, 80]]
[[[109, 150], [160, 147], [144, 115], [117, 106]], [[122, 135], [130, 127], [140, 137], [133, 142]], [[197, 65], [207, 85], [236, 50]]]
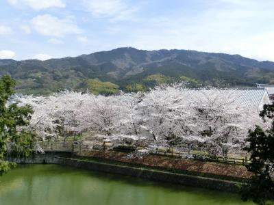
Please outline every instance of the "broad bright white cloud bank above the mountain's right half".
[[250, 1], [236, 5], [238, 1], [227, 0], [230, 4], [225, 6], [220, 6], [219, 1], [212, 2], [217, 5], [206, 6], [195, 15], [176, 11], [150, 18], [139, 16], [138, 22], [132, 25], [111, 25], [108, 35], [123, 38], [117, 38], [110, 44], [112, 47], [130, 45], [149, 50], [237, 53], [274, 61], [274, 27], [271, 24], [274, 1], [266, 4]]

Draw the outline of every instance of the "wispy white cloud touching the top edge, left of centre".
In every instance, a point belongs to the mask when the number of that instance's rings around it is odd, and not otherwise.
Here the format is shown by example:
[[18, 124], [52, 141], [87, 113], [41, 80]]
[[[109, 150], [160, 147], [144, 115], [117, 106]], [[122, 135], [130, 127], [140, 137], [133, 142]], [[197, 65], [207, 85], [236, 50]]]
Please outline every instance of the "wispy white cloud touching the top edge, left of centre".
[[109, 17], [112, 21], [127, 20], [136, 12], [122, 0], [82, 0], [84, 8], [97, 18]]

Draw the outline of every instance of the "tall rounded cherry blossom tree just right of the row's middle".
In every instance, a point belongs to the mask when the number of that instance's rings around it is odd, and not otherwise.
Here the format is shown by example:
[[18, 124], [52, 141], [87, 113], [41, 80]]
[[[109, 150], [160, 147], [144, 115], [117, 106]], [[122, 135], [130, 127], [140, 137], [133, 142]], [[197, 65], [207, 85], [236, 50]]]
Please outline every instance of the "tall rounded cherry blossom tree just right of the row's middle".
[[160, 85], [144, 94], [140, 102], [144, 125], [155, 141], [173, 139], [190, 131], [187, 120], [193, 115], [182, 84]]

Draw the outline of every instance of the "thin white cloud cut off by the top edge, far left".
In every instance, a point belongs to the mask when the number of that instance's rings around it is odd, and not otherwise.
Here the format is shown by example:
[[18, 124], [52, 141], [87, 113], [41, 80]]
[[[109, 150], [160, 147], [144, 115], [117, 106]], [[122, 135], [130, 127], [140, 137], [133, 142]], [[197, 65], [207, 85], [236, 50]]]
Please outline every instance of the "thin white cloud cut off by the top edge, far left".
[[27, 5], [34, 10], [47, 8], [64, 8], [66, 4], [62, 0], [8, 0], [11, 5]]

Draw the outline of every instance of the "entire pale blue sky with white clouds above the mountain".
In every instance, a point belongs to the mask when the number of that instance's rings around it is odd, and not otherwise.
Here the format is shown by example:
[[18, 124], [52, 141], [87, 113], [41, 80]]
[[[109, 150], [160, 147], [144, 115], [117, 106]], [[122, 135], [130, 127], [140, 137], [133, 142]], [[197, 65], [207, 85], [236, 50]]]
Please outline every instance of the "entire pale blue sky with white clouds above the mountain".
[[274, 61], [273, 0], [0, 0], [0, 59], [131, 46]]

